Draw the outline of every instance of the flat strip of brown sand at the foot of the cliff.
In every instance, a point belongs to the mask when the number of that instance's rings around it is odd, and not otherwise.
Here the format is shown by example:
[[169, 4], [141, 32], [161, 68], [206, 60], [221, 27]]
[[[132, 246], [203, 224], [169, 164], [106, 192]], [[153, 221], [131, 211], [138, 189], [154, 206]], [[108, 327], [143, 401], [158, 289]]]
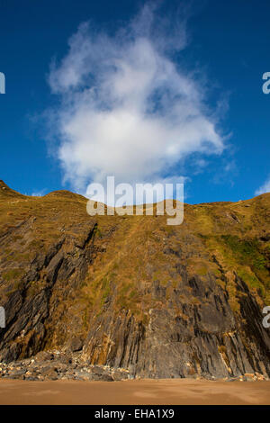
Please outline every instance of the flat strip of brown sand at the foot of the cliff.
[[270, 382], [0, 381], [1, 405], [245, 405], [270, 404]]

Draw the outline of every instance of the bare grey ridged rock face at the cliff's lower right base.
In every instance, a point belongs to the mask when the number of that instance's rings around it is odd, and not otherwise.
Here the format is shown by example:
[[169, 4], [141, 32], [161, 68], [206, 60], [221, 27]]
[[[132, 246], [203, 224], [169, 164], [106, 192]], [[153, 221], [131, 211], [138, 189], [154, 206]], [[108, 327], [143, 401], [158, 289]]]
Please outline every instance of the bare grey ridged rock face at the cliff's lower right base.
[[[121, 366], [134, 376], [149, 378], [269, 375], [270, 338], [247, 286], [238, 280], [239, 293], [247, 295], [241, 302], [247, 319], [243, 325], [229, 306], [228, 293], [214, 280], [209, 278], [209, 285], [203, 287], [198, 277], [188, 283], [196, 290], [201, 286], [207, 302], [183, 303], [182, 286], [166, 307], [149, 310], [147, 325], [136, 322], [127, 311], [112, 319], [109, 308], [89, 331], [84, 356], [90, 363]], [[158, 285], [152, 294], [157, 292]]]

